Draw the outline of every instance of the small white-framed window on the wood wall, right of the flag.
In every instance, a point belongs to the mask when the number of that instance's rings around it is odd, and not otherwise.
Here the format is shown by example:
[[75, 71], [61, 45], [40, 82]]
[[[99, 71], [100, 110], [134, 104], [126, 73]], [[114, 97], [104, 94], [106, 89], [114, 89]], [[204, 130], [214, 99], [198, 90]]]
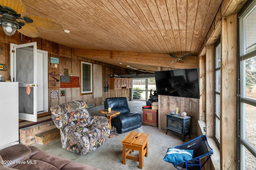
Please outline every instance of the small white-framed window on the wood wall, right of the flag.
[[92, 93], [92, 63], [81, 62], [81, 93]]

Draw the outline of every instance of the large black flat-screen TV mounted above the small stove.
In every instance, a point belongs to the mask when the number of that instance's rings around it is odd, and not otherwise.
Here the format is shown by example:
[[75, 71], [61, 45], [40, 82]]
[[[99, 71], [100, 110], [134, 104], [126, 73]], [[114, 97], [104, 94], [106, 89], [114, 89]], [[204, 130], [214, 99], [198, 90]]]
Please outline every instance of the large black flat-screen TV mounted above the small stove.
[[198, 68], [156, 71], [158, 95], [200, 98]]

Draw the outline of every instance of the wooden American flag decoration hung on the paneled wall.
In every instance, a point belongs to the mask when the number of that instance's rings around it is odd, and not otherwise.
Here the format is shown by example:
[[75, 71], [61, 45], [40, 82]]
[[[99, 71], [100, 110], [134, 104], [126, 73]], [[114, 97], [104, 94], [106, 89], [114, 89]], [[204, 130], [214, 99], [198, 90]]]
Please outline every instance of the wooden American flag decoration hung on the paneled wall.
[[60, 76], [60, 88], [80, 87], [80, 77]]

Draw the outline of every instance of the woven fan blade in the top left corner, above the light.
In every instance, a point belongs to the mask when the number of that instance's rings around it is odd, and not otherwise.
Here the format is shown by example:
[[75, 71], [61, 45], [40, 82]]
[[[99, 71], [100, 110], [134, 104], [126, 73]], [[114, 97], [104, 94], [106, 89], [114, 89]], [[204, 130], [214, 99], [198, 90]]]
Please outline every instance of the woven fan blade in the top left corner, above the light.
[[0, 0], [0, 5], [12, 8], [17, 14], [26, 12], [26, 7], [21, 0]]

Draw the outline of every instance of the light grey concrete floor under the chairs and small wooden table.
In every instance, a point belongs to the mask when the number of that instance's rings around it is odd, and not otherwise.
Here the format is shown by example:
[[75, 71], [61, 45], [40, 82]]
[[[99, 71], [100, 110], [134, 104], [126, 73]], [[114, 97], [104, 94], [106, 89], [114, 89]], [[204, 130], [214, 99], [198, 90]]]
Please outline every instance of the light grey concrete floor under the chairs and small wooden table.
[[[142, 114], [142, 106], [146, 105], [146, 101], [129, 101], [128, 102], [131, 111], [136, 111]], [[92, 112], [91, 115], [102, 115], [102, 113]], [[144, 157], [144, 170], [176, 170], [171, 163], [163, 160], [166, 151], [169, 147], [175, 147], [182, 145], [182, 137], [174, 135], [166, 130], [158, 129], [158, 127], [152, 127], [150, 125], [142, 125], [138, 129], [133, 131], [148, 133], [148, 157]], [[95, 151], [86, 155], [80, 155], [68, 150], [62, 149], [60, 139], [56, 139], [45, 145], [34, 144], [41, 150], [44, 150], [52, 155], [60, 156], [62, 158], [68, 158], [74, 162], [86, 164], [100, 168], [102, 170], [136, 170], [139, 162], [126, 159], [126, 165], [122, 164], [122, 139], [126, 137], [129, 132], [118, 134], [118, 137], [108, 138], [106, 143], [96, 149]], [[191, 138], [196, 136], [191, 134]], [[188, 141], [188, 136], [185, 138]], [[133, 152], [134, 155], [138, 155], [138, 151]]]

